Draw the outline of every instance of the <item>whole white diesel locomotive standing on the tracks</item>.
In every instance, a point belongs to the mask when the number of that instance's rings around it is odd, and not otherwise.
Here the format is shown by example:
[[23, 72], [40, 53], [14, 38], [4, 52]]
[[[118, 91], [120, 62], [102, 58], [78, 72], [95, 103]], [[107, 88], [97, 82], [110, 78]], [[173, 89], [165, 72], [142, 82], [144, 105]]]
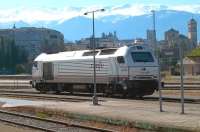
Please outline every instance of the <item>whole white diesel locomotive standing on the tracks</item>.
[[[150, 95], [158, 88], [158, 63], [142, 45], [97, 49], [97, 92]], [[93, 51], [40, 54], [32, 67], [32, 86], [41, 92], [93, 91]]]

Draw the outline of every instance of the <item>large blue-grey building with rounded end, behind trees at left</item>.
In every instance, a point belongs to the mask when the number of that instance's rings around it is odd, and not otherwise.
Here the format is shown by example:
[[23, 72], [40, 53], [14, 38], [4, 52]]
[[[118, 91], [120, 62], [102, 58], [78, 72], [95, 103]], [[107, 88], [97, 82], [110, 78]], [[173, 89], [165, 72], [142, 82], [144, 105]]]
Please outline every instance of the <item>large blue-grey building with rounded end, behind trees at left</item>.
[[64, 49], [64, 36], [52, 29], [14, 26], [0, 29], [0, 36], [12, 39], [17, 47], [25, 49], [30, 61], [41, 52], [55, 53]]

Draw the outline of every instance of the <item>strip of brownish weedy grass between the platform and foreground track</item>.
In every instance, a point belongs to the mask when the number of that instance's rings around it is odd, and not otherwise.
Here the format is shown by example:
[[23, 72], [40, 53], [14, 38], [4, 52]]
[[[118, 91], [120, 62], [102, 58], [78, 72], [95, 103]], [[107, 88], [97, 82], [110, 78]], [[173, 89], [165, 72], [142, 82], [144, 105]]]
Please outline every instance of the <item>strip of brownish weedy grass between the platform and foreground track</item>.
[[[26, 112], [26, 109], [28, 112]], [[171, 126], [163, 126], [161, 124], [154, 124], [149, 123], [145, 121], [128, 121], [125, 119], [114, 119], [114, 118], [108, 118], [108, 117], [102, 117], [102, 116], [95, 116], [95, 115], [85, 115], [85, 114], [79, 114], [79, 113], [71, 113], [66, 111], [58, 111], [58, 110], [52, 110], [47, 108], [35, 108], [35, 107], [20, 107], [20, 108], [14, 108], [13, 110], [18, 112], [25, 112], [29, 113], [31, 112], [37, 117], [40, 118], [56, 118], [56, 119], [72, 119], [80, 122], [84, 121], [90, 121], [91, 124], [94, 124], [93, 126], [96, 127], [102, 127], [102, 124], [108, 124], [113, 126], [120, 126], [122, 127], [121, 130], [127, 130], [131, 131], [130, 129], [145, 129], [145, 130], [153, 130], [153, 131], [159, 131], [159, 132], [186, 132], [188, 130], [185, 130], [184, 128], [174, 128]], [[31, 110], [31, 111], [30, 111]], [[104, 126], [103, 125], [103, 126]], [[126, 132], [126, 131], [124, 131]]]

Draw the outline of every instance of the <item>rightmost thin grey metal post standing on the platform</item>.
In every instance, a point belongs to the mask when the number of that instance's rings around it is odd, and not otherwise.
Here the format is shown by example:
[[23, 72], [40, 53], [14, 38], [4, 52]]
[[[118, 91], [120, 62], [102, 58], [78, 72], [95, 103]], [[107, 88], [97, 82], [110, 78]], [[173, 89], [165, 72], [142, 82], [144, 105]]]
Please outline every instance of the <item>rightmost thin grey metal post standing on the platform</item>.
[[184, 69], [183, 69], [183, 49], [182, 49], [182, 46], [181, 46], [181, 43], [179, 43], [180, 47], [179, 47], [179, 55], [180, 55], [180, 63], [181, 63], [181, 114], [184, 114], [184, 87], [183, 87], [183, 72], [184, 72]]

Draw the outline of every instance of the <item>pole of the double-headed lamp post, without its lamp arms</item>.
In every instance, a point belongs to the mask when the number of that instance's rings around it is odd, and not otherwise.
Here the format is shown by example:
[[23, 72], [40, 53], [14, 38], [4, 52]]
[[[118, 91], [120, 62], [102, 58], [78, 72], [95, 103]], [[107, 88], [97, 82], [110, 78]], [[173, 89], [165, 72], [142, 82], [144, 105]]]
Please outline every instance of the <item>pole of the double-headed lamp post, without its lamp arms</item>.
[[96, 87], [96, 58], [95, 58], [95, 48], [96, 48], [96, 44], [95, 44], [95, 33], [94, 33], [94, 12], [92, 12], [92, 31], [93, 31], [93, 35], [92, 35], [92, 42], [93, 42], [93, 65], [94, 65], [94, 75], [93, 75], [93, 83], [94, 83], [94, 95], [92, 98], [92, 102], [93, 105], [98, 105], [98, 97], [97, 97], [97, 87]]

